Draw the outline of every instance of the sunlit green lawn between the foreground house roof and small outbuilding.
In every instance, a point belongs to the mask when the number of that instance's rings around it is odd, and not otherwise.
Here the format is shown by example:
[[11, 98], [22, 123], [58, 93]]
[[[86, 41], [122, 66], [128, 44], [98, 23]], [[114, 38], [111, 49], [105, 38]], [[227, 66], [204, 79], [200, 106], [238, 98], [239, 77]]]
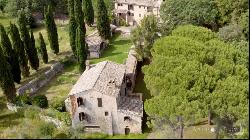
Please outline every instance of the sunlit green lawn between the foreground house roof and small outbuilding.
[[90, 60], [90, 64], [96, 64], [105, 60], [123, 64], [128, 57], [128, 52], [131, 45], [132, 43], [129, 39], [115, 34], [110, 41], [110, 45], [106, 47], [104, 52], [101, 54], [101, 58]]

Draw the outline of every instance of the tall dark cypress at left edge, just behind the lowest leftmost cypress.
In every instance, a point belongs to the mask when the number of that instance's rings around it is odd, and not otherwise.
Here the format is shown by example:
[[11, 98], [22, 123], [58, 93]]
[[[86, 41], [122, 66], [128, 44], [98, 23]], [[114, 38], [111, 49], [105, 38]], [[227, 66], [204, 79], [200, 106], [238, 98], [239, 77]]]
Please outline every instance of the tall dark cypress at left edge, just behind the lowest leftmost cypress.
[[2, 46], [3, 55], [6, 57], [7, 62], [11, 65], [11, 73], [13, 80], [20, 84], [21, 81], [21, 70], [18, 62], [18, 57], [12, 49], [12, 45], [8, 35], [2, 24], [0, 24], [0, 43]]

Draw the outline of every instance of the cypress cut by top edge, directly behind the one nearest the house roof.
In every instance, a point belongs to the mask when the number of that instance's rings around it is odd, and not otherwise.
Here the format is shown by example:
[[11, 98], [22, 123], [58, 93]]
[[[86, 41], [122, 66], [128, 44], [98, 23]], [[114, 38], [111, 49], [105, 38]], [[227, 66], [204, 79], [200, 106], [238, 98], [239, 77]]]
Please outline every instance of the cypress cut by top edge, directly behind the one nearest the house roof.
[[85, 28], [85, 23], [84, 23], [84, 13], [82, 11], [81, 0], [75, 0], [74, 5], [75, 5], [74, 6], [74, 13], [75, 13], [75, 19], [76, 19], [77, 27], [78, 26], [80, 27], [80, 29], [82, 30], [82, 33], [83, 33], [83, 35], [85, 37], [86, 28]]

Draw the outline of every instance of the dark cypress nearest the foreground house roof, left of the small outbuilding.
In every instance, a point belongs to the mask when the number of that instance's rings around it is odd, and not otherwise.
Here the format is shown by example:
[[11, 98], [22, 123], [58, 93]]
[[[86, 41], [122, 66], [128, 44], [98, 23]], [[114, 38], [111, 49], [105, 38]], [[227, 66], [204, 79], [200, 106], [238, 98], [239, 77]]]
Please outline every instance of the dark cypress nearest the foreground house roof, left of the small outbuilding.
[[80, 28], [80, 26], [77, 27], [76, 30], [76, 48], [77, 48], [77, 60], [79, 63], [79, 71], [83, 72], [86, 68], [85, 61], [87, 59], [87, 50], [85, 47], [85, 40], [84, 40], [84, 34]]

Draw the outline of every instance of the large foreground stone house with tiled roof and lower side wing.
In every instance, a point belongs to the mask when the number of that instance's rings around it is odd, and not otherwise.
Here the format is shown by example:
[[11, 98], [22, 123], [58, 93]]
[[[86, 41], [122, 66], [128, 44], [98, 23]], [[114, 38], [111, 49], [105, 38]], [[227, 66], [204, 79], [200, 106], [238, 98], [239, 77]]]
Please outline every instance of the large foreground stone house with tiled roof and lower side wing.
[[84, 71], [65, 100], [72, 127], [110, 135], [142, 132], [143, 102], [127, 95], [125, 71], [110, 61]]

